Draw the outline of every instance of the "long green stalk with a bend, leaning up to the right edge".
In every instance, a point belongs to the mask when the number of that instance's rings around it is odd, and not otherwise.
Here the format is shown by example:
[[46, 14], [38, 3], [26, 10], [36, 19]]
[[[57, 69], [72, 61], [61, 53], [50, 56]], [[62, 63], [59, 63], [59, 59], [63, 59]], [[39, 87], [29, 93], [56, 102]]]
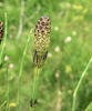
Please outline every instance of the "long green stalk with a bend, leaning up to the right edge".
[[79, 80], [79, 82], [78, 82], [78, 85], [76, 85], [76, 88], [75, 88], [75, 90], [74, 90], [74, 93], [73, 93], [73, 102], [72, 102], [72, 111], [75, 111], [75, 99], [76, 99], [76, 93], [78, 93], [78, 90], [79, 90], [79, 88], [80, 88], [80, 85], [81, 85], [81, 83], [82, 83], [82, 80], [83, 80], [83, 78], [84, 78], [84, 75], [85, 75], [85, 73], [86, 73], [86, 71], [88, 71], [88, 69], [89, 69], [91, 62], [92, 62], [92, 58], [90, 59], [88, 65], [85, 67], [83, 73], [82, 73], [82, 75], [81, 75], [81, 78], [80, 78], [80, 80]]

